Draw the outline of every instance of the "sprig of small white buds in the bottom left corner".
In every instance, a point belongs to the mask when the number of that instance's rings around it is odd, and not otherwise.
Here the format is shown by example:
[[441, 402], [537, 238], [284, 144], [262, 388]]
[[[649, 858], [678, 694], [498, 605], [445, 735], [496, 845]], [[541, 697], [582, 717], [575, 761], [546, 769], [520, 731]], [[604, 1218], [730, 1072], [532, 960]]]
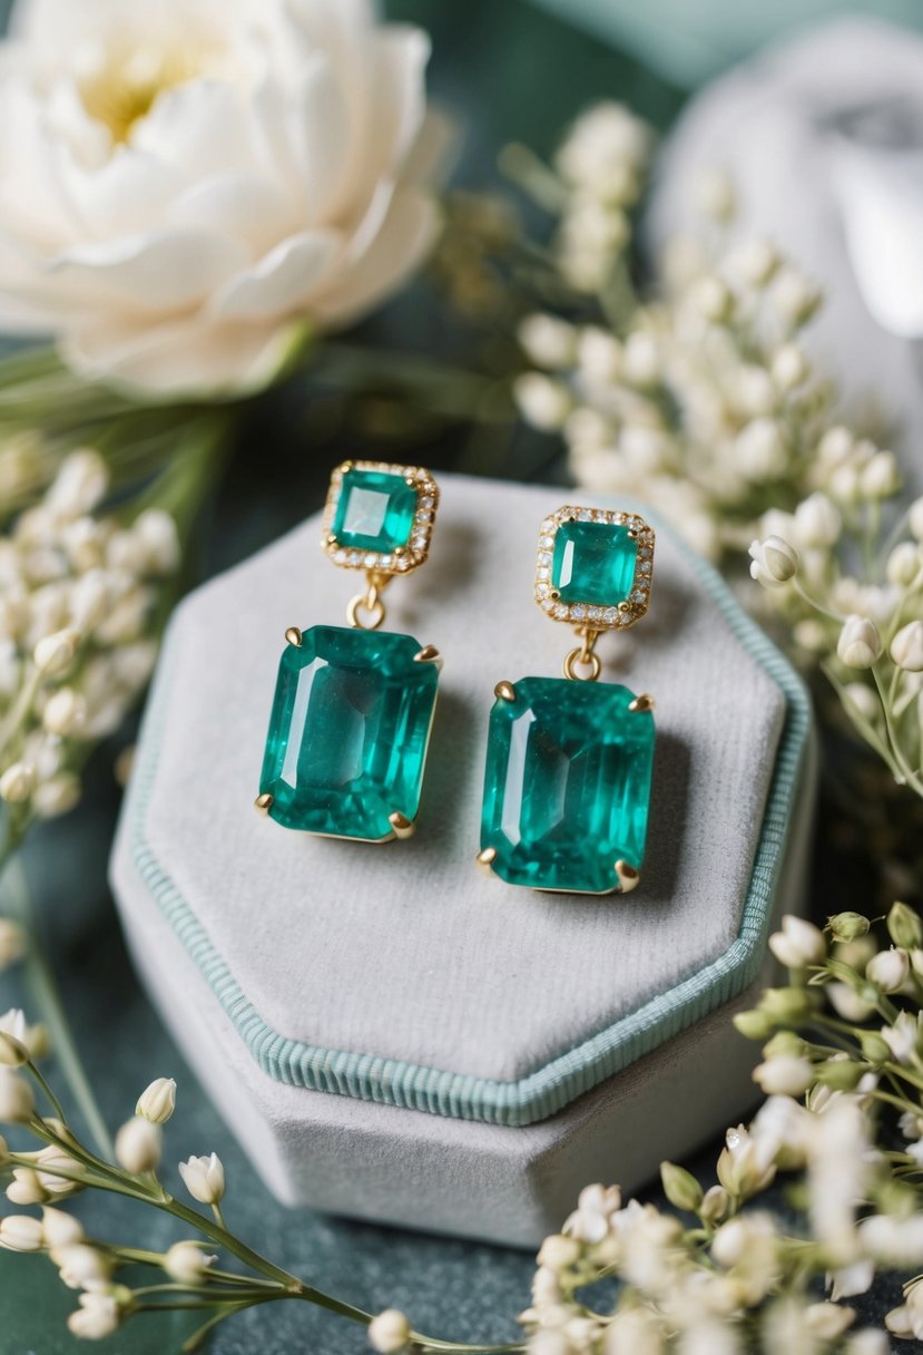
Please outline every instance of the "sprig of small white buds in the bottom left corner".
[[[115, 1135], [115, 1161], [96, 1154], [68, 1123], [61, 1103], [39, 1072], [32, 1050], [41, 1047], [34, 1027], [22, 1012], [0, 1019], [0, 1123], [27, 1131], [43, 1146], [37, 1152], [11, 1148], [0, 1138], [0, 1176], [8, 1177], [7, 1199], [35, 1214], [0, 1218], [0, 1247], [42, 1253], [60, 1279], [76, 1293], [77, 1306], [68, 1318], [74, 1336], [99, 1340], [143, 1313], [181, 1310], [202, 1318], [185, 1351], [192, 1352], [221, 1322], [263, 1304], [307, 1302], [368, 1328], [376, 1351], [499, 1355], [522, 1351], [512, 1346], [457, 1346], [414, 1332], [403, 1314], [388, 1309], [365, 1313], [352, 1304], [307, 1285], [296, 1275], [253, 1251], [226, 1224], [222, 1201], [225, 1168], [215, 1153], [179, 1164], [183, 1184], [196, 1209], [175, 1198], [158, 1171], [164, 1134], [176, 1107], [176, 1083], [160, 1077], [138, 1098], [135, 1114]], [[39, 1110], [47, 1100], [50, 1114]], [[84, 1191], [107, 1191], [138, 1206], [169, 1214], [181, 1236], [164, 1252], [87, 1236], [80, 1221], [61, 1207]], [[225, 1264], [221, 1256], [233, 1257]], [[138, 1268], [160, 1271], [150, 1282], [138, 1280]]]

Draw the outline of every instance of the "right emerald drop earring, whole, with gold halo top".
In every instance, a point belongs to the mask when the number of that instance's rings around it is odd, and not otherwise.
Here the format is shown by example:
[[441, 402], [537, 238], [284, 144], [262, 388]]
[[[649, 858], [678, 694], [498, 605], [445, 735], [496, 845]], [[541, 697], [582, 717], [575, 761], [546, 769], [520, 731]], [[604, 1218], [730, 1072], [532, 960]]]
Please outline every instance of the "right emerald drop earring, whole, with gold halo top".
[[629, 512], [560, 508], [539, 535], [535, 596], [575, 627], [564, 679], [497, 684], [479, 864], [510, 885], [628, 893], [640, 879], [654, 768], [654, 699], [598, 682], [595, 645], [646, 614], [654, 531]]

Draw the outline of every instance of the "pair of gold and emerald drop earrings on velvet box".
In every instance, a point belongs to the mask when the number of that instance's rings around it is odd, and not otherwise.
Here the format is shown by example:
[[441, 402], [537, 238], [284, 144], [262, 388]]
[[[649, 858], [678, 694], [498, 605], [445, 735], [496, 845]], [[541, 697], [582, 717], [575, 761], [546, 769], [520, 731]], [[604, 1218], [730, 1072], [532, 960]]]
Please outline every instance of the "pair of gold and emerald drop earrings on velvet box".
[[[364, 570], [349, 626], [286, 631], [256, 806], [284, 828], [383, 843], [410, 837], [443, 660], [379, 630], [384, 589], [429, 554], [438, 486], [428, 470], [344, 462], [323, 549]], [[563, 678], [494, 688], [478, 863], [510, 885], [628, 893], [640, 879], [654, 702], [600, 682], [595, 645], [646, 614], [654, 531], [632, 512], [560, 508], [541, 523], [535, 598], [579, 644]]]

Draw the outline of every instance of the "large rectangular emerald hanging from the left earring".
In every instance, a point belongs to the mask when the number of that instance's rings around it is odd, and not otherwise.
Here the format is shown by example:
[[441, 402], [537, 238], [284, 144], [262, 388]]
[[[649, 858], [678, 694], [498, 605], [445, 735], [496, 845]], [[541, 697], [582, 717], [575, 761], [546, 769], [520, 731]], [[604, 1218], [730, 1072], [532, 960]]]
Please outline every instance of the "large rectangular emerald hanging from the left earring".
[[410, 635], [314, 626], [279, 663], [260, 793], [286, 828], [380, 841], [415, 818], [438, 673]]

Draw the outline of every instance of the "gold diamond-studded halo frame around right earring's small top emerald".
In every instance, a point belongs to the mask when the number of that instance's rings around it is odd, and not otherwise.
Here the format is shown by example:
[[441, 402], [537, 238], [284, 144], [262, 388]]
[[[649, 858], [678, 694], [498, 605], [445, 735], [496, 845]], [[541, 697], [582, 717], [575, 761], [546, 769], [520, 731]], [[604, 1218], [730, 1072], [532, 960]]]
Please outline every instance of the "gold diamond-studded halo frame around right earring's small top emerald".
[[[612, 526], [627, 526], [628, 535], [637, 542], [635, 577], [627, 598], [613, 598], [609, 606], [597, 603], [564, 603], [551, 583], [555, 556], [555, 538], [562, 523], [601, 522]], [[627, 630], [646, 615], [651, 600], [654, 579], [655, 533], [637, 514], [620, 512], [608, 508], [578, 508], [566, 504], [551, 514], [539, 528], [539, 551], [536, 557], [535, 600], [552, 621], [563, 621], [571, 626], [591, 630]]]

